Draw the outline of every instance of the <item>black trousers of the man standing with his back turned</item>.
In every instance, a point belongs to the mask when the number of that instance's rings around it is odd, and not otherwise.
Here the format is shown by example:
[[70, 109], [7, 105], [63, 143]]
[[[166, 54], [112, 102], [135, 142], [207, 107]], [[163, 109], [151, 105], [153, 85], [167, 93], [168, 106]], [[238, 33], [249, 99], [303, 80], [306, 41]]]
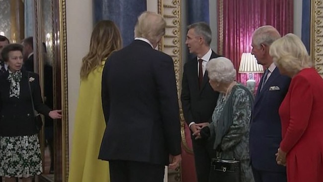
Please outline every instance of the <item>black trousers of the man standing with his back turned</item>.
[[110, 182], [163, 182], [164, 165], [134, 162], [109, 161]]

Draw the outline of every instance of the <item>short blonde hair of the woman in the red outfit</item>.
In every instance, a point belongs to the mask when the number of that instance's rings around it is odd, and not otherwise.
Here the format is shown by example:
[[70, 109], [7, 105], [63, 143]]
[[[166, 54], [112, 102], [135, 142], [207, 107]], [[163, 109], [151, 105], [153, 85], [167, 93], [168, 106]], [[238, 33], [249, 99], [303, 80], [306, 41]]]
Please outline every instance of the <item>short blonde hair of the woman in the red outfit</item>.
[[292, 33], [276, 40], [270, 46], [269, 54], [278, 68], [282, 67], [292, 74], [312, 66], [310, 56], [302, 40]]

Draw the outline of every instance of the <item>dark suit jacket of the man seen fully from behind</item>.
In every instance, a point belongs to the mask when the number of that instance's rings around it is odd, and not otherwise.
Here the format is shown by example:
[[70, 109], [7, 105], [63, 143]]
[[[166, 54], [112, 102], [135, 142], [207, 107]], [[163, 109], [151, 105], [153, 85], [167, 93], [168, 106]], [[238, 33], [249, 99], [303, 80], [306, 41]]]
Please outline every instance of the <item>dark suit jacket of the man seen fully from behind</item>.
[[99, 159], [167, 165], [181, 153], [173, 62], [134, 40], [113, 53], [102, 73], [106, 129]]

